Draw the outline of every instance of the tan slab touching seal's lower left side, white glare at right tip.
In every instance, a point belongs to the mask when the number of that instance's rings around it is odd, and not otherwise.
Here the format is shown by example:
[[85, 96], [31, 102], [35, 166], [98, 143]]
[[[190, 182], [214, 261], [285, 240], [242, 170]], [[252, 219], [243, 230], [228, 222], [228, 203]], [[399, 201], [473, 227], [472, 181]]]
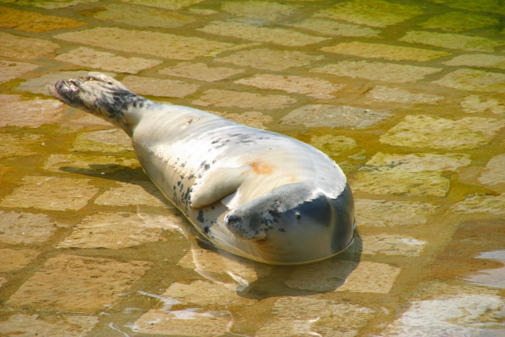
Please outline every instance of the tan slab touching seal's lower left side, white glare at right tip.
[[178, 228], [180, 218], [172, 218], [178, 222], [142, 213], [96, 213], [86, 217], [58, 247], [122, 249], [157, 242], [163, 229]]

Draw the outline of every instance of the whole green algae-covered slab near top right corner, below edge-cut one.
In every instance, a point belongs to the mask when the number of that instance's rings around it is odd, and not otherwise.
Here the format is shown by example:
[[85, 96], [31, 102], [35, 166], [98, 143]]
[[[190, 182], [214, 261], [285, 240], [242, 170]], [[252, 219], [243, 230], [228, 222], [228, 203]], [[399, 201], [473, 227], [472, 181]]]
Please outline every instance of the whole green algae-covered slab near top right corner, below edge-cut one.
[[450, 12], [435, 16], [420, 23], [423, 28], [435, 28], [450, 32], [464, 32], [471, 29], [485, 28], [498, 25], [500, 21], [496, 18], [466, 12]]

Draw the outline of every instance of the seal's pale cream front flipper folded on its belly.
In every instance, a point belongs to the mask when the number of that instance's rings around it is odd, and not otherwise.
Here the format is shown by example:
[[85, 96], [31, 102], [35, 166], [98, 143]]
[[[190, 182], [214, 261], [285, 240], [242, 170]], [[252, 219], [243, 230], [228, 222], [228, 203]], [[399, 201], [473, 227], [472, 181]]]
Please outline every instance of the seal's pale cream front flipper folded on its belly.
[[197, 179], [191, 190], [191, 208], [214, 204], [235, 192], [247, 176], [244, 167], [220, 167]]

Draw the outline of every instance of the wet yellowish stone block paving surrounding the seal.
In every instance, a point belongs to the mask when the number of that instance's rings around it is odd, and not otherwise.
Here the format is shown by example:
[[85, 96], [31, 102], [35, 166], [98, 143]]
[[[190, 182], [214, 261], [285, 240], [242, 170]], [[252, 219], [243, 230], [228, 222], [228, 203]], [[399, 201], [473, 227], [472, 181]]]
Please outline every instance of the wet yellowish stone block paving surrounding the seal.
[[[505, 335], [497, 0], [0, 0], [0, 335]], [[311, 143], [355, 245], [270, 266], [199, 243], [129, 138], [48, 97], [101, 71]]]

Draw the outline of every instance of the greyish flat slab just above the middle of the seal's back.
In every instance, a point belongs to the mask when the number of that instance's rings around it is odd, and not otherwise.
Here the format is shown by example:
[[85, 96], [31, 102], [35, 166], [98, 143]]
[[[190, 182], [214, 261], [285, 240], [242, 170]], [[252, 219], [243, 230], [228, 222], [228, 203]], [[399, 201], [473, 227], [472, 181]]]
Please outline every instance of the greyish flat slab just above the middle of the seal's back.
[[282, 117], [283, 124], [307, 127], [345, 127], [363, 129], [391, 116], [387, 112], [327, 104], [307, 105]]

